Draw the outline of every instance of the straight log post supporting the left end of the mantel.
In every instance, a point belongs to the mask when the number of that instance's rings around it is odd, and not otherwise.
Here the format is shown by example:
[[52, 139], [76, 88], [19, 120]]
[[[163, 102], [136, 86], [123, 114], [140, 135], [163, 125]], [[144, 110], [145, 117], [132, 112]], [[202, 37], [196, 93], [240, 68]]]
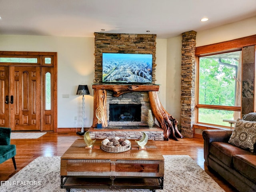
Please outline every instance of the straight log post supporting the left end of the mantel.
[[108, 121], [107, 121], [107, 91], [106, 90], [94, 90], [94, 101], [93, 101], [93, 122], [92, 127], [97, 127], [98, 124], [98, 118], [96, 116], [97, 108], [101, 108], [103, 111], [102, 117], [101, 117], [101, 124], [102, 128], [108, 127]]

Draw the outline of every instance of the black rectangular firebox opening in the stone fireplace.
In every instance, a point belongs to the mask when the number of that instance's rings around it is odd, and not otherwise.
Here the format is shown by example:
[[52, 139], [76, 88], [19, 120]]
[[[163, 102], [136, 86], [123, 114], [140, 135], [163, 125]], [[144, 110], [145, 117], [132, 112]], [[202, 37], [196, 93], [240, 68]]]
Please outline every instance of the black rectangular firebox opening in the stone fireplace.
[[109, 104], [109, 121], [141, 121], [141, 104]]

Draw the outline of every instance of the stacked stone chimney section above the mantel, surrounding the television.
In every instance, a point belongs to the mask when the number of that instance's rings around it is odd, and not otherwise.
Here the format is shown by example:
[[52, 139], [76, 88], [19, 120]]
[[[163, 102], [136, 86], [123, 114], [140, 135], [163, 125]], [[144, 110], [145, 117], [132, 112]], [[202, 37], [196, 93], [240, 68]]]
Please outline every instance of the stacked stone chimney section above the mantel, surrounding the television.
[[102, 82], [102, 53], [152, 54], [152, 83], [156, 81], [156, 34], [94, 33], [95, 78]]

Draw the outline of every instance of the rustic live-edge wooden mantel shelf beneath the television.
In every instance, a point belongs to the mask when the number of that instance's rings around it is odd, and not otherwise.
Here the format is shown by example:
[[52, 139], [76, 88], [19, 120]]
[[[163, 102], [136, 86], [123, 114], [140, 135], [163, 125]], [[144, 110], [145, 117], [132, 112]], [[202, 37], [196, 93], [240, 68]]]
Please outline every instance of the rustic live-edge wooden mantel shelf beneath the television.
[[116, 84], [93, 84], [94, 90], [110, 90], [113, 92], [114, 97], [128, 92], [146, 92], [146, 91], [158, 91], [159, 85], [116, 85]]

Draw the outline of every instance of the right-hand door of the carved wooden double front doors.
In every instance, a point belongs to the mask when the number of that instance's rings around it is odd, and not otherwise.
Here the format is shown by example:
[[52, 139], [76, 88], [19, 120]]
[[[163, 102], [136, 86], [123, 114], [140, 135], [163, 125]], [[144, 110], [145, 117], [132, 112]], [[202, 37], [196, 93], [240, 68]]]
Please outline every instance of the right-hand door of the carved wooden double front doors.
[[40, 130], [40, 67], [10, 67], [10, 127]]

